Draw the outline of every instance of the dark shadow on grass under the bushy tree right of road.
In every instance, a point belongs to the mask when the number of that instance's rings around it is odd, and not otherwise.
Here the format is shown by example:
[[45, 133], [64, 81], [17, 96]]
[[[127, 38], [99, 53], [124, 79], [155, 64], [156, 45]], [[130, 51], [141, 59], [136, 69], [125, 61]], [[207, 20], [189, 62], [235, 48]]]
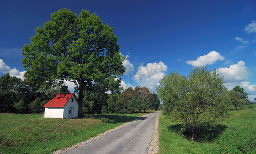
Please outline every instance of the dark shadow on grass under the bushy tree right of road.
[[[186, 131], [182, 124], [176, 124], [172, 126], [167, 126], [168, 130], [178, 134], [182, 134], [189, 140], [189, 133]], [[212, 142], [214, 139], [218, 138], [225, 130], [225, 125], [215, 124], [215, 125], [206, 125], [198, 128], [198, 135], [196, 141], [199, 142]], [[184, 131], [185, 130], [185, 131]]]

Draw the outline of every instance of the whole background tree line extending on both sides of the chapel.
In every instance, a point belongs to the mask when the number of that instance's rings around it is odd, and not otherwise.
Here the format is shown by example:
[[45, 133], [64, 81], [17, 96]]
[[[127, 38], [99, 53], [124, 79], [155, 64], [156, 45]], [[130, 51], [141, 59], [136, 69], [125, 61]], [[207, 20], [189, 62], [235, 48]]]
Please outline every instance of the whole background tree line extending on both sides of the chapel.
[[[0, 113], [43, 113], [45, 105], [58, 93], [70, 93], [68, 87], [57, 83], [50, 90], [39, 91], [26, 80], [10, 76], [0, 77]], [[100, 103], [99, 103], [100, 102]], [[157, 110], [160, 100], [146, 87], [127, 88], [122, 93], [86, 93], [83, 113], [135, 113], [147, 109]]]

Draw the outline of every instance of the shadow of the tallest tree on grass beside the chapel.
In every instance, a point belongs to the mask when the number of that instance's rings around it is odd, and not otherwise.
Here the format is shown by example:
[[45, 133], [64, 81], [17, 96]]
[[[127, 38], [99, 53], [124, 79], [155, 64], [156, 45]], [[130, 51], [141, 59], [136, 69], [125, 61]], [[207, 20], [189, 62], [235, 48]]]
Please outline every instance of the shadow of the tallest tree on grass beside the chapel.
[[83, 117], [79, 117], [79, 118], [94, 118], [94, 119], [98, 119], [101, 120], [105, 123], [112, 123], [112, 124], [116, 124], [116, 123], [126, 123], [126, 122], [130, 122], [133, 120], [144, 120], [145, 117], [136, 117], [136, 116], [126, 116], [126, 115], [100, 115], [100, 114], [86, 114], [83, 115]]

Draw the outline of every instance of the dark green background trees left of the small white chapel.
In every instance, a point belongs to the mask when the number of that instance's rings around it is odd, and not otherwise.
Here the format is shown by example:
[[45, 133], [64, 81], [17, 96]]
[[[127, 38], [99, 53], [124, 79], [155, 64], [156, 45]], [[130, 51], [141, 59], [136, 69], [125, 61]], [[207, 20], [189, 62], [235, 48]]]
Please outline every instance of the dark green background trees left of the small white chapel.
[[0, 77], [0, 113], [42, 113], [43, 105], [58, 93], [69, 93], [68, 87], [56, 83], [40, 92], [26, 80], [7, 73]]

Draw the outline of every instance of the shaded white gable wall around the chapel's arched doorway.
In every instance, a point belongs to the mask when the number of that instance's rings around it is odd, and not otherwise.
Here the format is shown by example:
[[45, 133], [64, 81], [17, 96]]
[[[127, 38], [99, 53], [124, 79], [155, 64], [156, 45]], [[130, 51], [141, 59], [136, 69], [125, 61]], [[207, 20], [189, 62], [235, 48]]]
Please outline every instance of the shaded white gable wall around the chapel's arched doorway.
[[[71, 102], [71, 99], [73, 99], [73, 102]], [[73, 112], [74, 117], [72, 117], [72, 118], [76, 118], [78, 116], [78, 103], [77, 103], [77, 100], [75, 99], [74, 95], [72, 95], [72, 97], [68, 100], [68, 102], [64, 106], [63, 118], [68, 118], [70, 107], [74, 107], [74, 112]]]

